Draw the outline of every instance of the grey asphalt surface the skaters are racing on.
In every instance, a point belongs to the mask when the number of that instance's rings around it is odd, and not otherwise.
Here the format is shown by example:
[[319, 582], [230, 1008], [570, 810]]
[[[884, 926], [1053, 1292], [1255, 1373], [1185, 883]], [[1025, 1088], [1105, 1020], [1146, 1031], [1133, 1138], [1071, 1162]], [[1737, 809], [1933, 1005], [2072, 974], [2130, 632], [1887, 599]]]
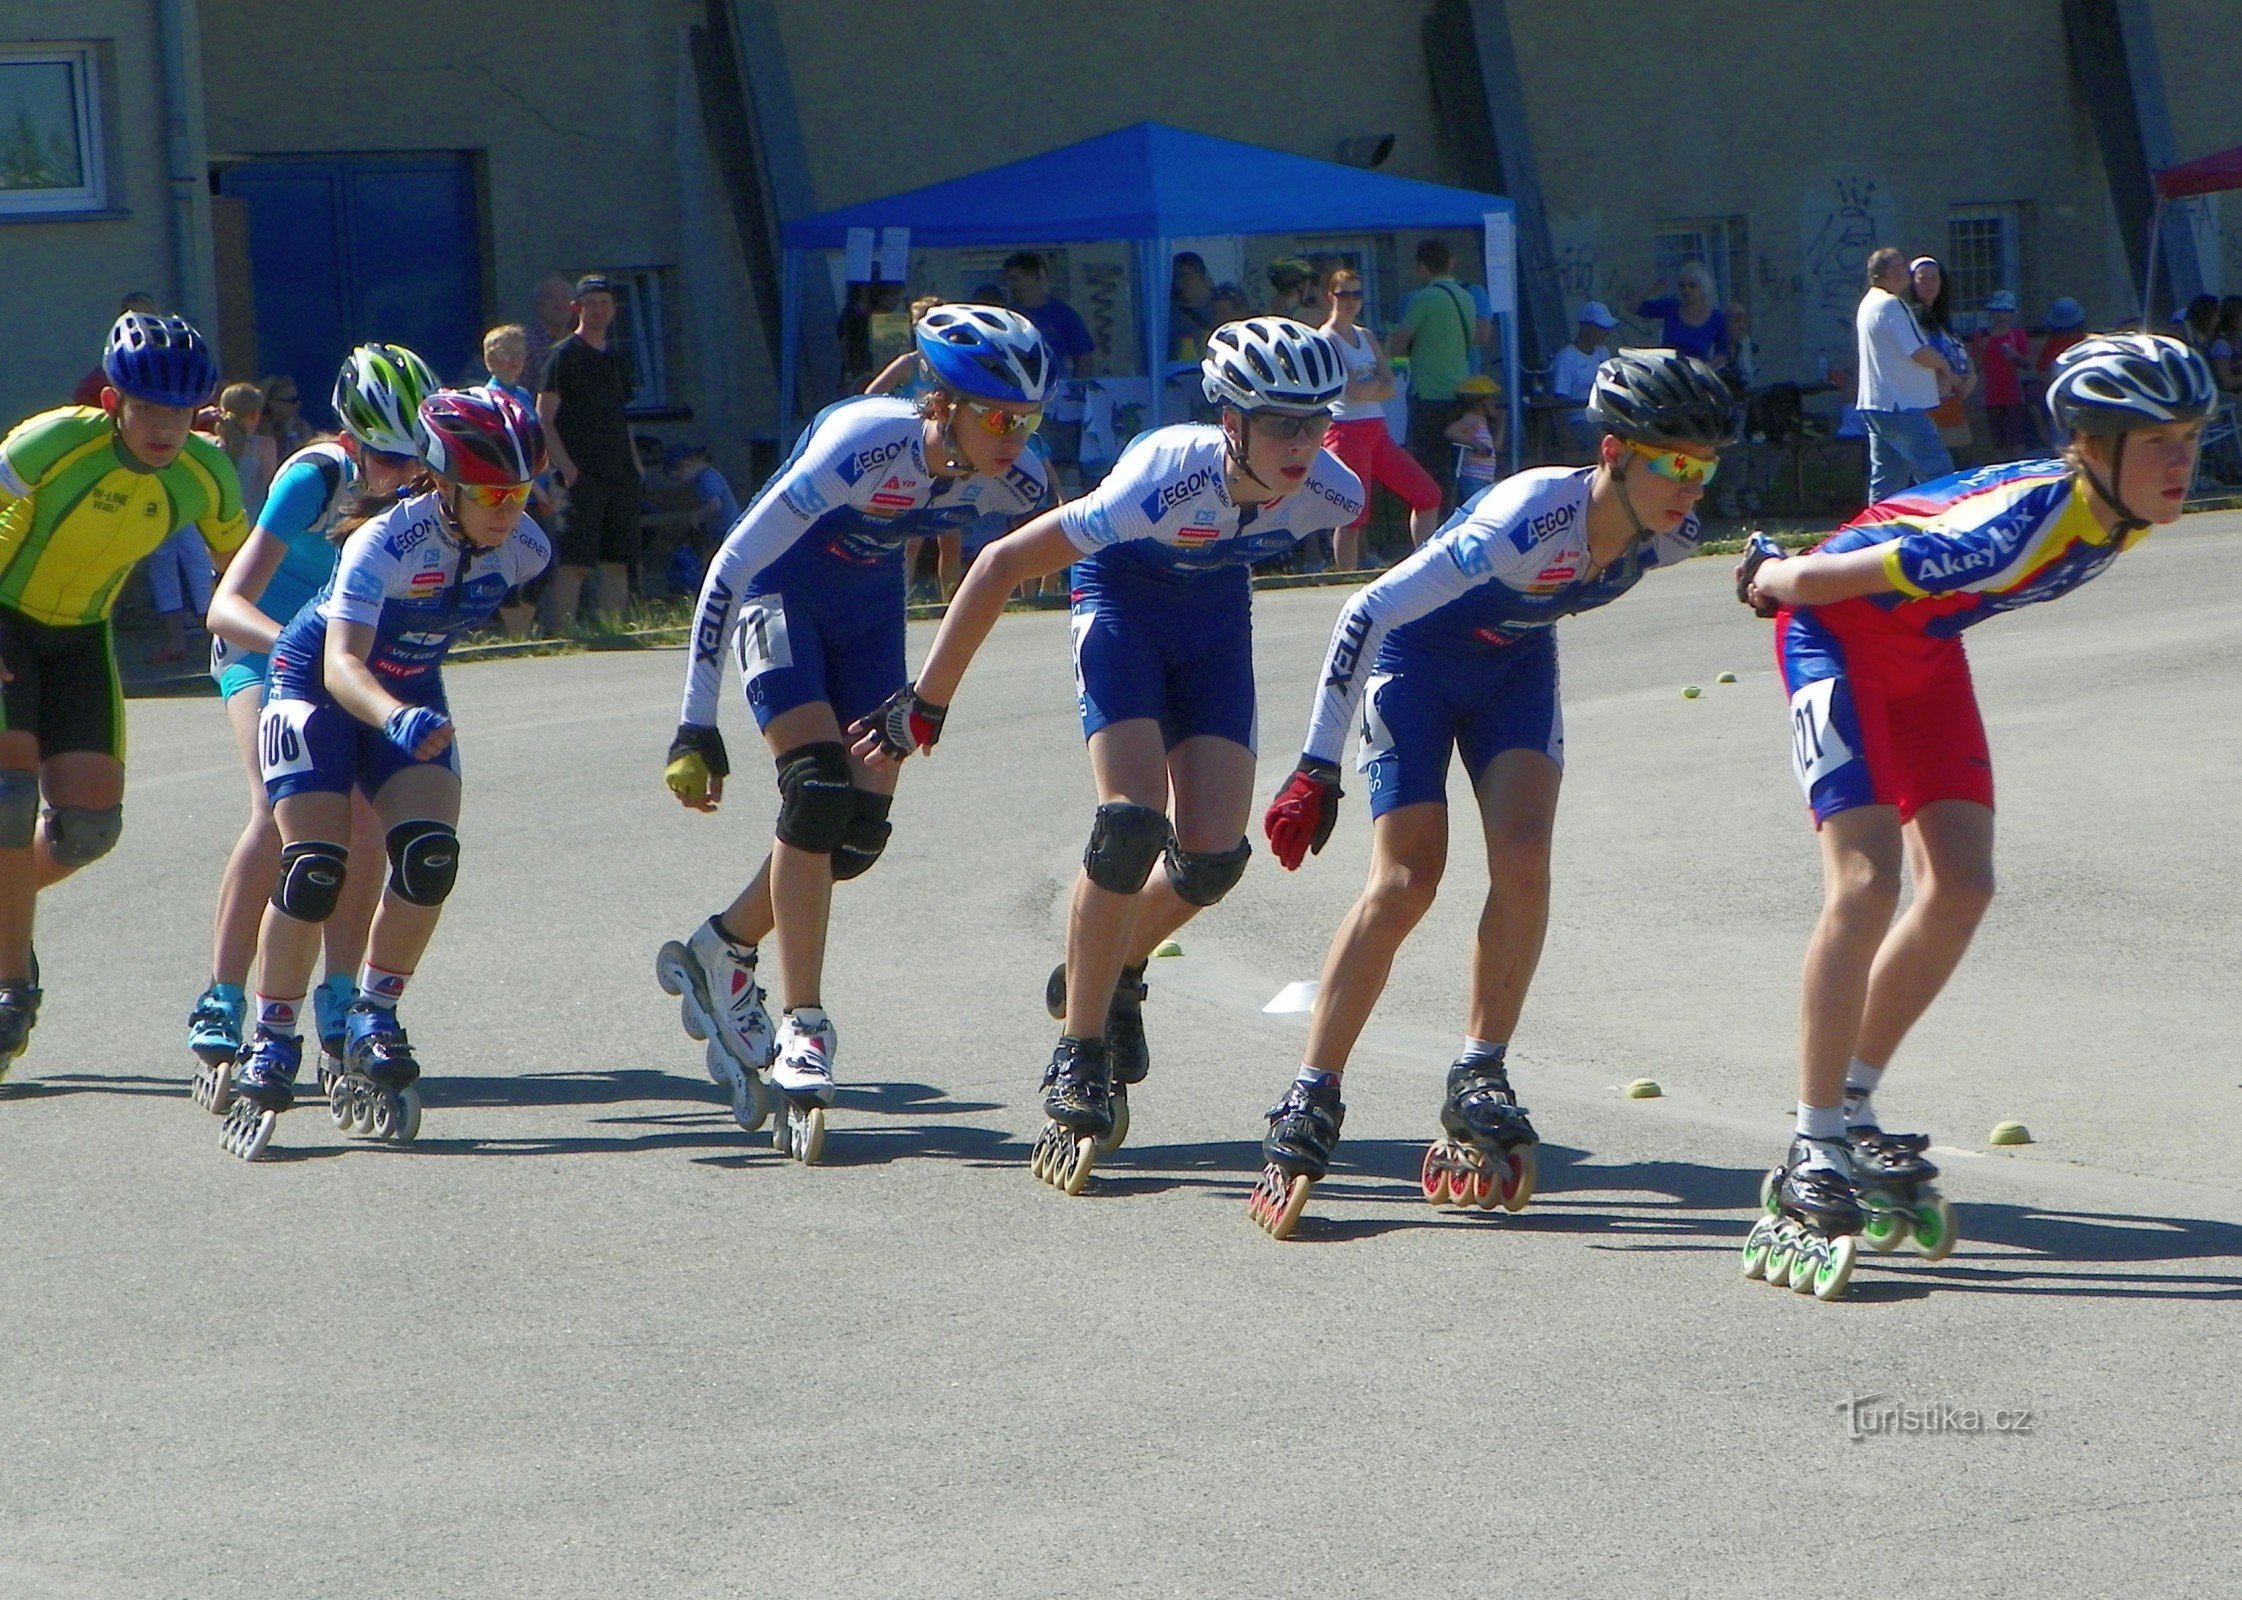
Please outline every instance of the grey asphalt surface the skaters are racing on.
[[[1818, 876], [1726, 560], [1565, 625], [1513, 1046], [1540, 1197], [1417, 1192], [1464, 834], [1289, 1244], [1244, 1215], [1303, 1038], [1260, 1006], [1361, 885], [1359, 796], [1155, 964], [1152, 1078], [1090, 1192], [1027, 1174], [1092, 804], [1063, 616], [998, 627], [839, 896], [814, 1170], [733, 1127], [652, 982], [773, 811], [738, 704], [724, 811], [670, 802], [677, 652], [453, 672], [421, 1138], [309, 1105], [253, 1168], [182, 1044], [242, 773], [215, 701], [137, 704], [123, 843], [43, 905], [0, 1091], [0, 1596], [2226, 1591], [2238, 540], [2190, 518], [1971, 636], [2002, 894], [1879, 1094], [1935, 1134], [1964, 1241], [1863, 1255], [1838, 1304], [1738, 1275]], [[1264, 796], [1338, 601], [1256, 603]], [[1641, 1076], [1664, 1098], [1619, 1094]], [[2038, 1143], [1991, 1150], [2002, 1118]]]

